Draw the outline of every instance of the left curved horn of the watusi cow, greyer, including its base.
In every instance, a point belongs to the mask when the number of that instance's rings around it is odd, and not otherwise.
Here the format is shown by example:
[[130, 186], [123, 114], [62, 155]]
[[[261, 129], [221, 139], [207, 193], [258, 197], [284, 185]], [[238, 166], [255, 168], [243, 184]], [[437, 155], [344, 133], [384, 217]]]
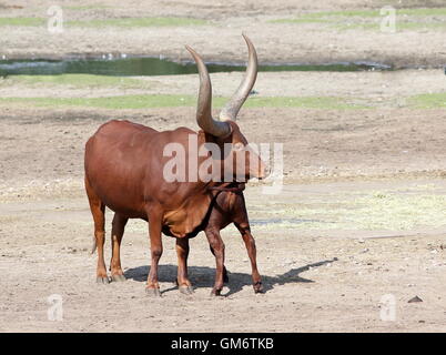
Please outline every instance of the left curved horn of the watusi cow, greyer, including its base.
[[199, 104], [196, 106], [196, 123], [200, 128], [214, 136], [225, 136], [231, 133], [231, 125], [227, 122], [215, 121], [212, 118], [212, 85], [209, 78], [206, 65], [201, 57], [189, 45], [186, 50], [192, 54], [199, 68], [200, 74], [200, 91]]

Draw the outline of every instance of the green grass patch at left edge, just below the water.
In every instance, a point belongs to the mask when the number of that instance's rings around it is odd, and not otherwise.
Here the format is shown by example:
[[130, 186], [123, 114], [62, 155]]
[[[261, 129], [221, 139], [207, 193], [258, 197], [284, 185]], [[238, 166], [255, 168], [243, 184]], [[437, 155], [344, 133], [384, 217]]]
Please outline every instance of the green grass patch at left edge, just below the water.
[[149, 87], [148, 82], [139, 79], [93, 74], [10, 75], [4, 80], [3, 83], [7, 85], [65, 85], [70, 88], [143, 89]]

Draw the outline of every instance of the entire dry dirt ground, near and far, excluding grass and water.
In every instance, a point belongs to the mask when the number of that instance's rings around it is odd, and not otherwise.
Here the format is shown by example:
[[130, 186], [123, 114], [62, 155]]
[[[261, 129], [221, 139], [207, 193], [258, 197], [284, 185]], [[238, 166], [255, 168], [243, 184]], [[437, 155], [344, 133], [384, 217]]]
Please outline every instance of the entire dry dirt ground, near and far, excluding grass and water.
[[[444, 6], [407, 1], [407, 7]], [[246, 30], [264, 61], [376, 60], [402, 65], [445, 62], [444, 32], [335, 31], [317, 23], [274, 24], [296, 12], [361, 10], [383, 1], [62, 1], [85, 6], [67, 16], [119, 18], [193, 16], [212, 24], [187, 28], [44, 29], [0, 27], [7, 55], [103, 52], [185, 55], [185, 42], [209, 60], [241, 60]], [[392, 1], [391, 1], [392, 3]], [[51, 3], [52, 4], [52, 3]], [[385, 3], [384, 4], [388, 4]], [[19, 8], [14, 8], [18, 6]], [[49, 2], [1, 1], [2, 17], [44, 17]], [[107, 6], [108, 8], [101, 8]], [[296, 36], [296, 31], [300, 31]], [[207, 41], [206, 38], [219, 38]], [[367, 36], [365, 36], [367, 34]], [[221, 41], [220, 41], [221, 40]], [[386, 41], [386, 45], [379, 41]], [[280, 50], [277, 43], [282, 44]], [[333, 45], [330, 45], [333, 44]], [[325, 50], [325, 49], [330, 50]], [[1, 54], [1, 53], [0, 53]], [[240, 73], [213, 74], [227, 97]], [[444, 93], [439, 70], [362, 73], [261, 73], [260, 97], [342, 97], [368, 109], [243, 109], [251, 142], [282, 143], [284, 186], [265, 195], [252, 183], [247, 209], [265, 293], [255, 295], [250, 264], [234, 229], [223, 232], [230, 283], [209, 296], [214, 258], [204, 235], [191, 242], [193, 296], [173, 284], [176, 256], [164, 237], [162, 297], [144, 294], [150, 263], [146, 225], [131, 221], [122, 248], [125, 283], [95, 284], [90, 255], [92, 219], [84, 196], [83, 146], [100, 124], [129, 119], [160, 130], [196, 128], [194, 108], [105, 110], [0, 102], [0, 331], [1, 332], [445, 332], [446, 121], [444, 108], [407, 104], [412, 95]], [[140, 78], [141, 79], [141, 78]], [[91, 98], [195, 94], [195, 75], [144, 79], [144, 89], [0, 82], [1, 98]], [[110, 232], [111, 214], [108, 214]], [[109, 245], [108, 240], [108, 245]], [[107, 248], [107, 261], [110, 248]], [[63, 301], [63, 321], [48, 320], [48, 297]], [[383, 321], [383, 296], [395, 320]], [[423, 302], [408, 303], [418, 296]]]

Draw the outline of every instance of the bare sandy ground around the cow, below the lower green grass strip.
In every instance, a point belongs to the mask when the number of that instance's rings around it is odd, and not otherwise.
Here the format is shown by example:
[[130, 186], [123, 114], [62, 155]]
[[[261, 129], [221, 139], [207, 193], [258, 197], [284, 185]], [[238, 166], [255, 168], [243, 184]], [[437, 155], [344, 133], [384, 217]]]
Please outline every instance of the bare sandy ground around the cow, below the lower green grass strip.
[[[89, 254], [92, 221], [82, 189], [82, 151], [87, 138], [108, 115], [101, 111], [29, 109], [4, 113], [0, 120], [0, 266], [7, 272], [1, 280], [0, 329], [445, 331], [446, 229], [440, 221], [435, 229], [408, 231], [339, 230], [336, 225], [324, 230], [298, 224], [290, 227], [276, 224], [271, 216], [278, 205], [325, 206], [330, 211], [339, 204], [339, 196], [352, 191], [363, 195], [367, 191], [435, 186], [443, 195], [444, 126], [435, 120], [438, 113], [399, 111], [389, 111], [382, 121], [371, 112], [373, 120], [363, 122], [366, 115], [323, 110], [245, 110], [242, 126], [251, 141], [284, 141], [288, 175], [283, 192], [267, 196], [268, 203], [261, 186], [250, 186], [246, 192], [266, 293], [254, 295], [243, 243], [227, 229], [223, 235], [230, 283], [226, 296], [220, 300], [209, 297], [214, 260], [204, 235], [191, 243], [195, 294], [183, 296], [173, 285], [176, 256], [173, 240], [165, 237], [160, 268], [163, 297], [148, 298], [144, 281], [150, 252], [141, 221], [129, 224], [123, 243], [128, 281], [98, 286], [95, 256]], [[407, 120], [408, 114], [413, 120]], [[186, 118], [193, 116], [193, 109], [115, 112], [112, 116], [128, 115], [160, 129], [191, 126]], [[320, 120], [325, 126], [348, 129], [302, 131]], [[284, 130], [262, 129], [267, 122]], [[298, 132], [298, 139], [288, 138], [287, 130]], [[389, 132], [394, 132], [393, 139], [388, 139]], [[333, 176], [335, 166], [338, 175], [351, 178]], [[351, 211], [361, 214], [355, 206]], [[277, 213], [281, 219], [290, 216]], [[330, 216], [322, 219], [330, 221]], [[51, 294], [62, 296], [62, 322], [47, 318]], [[379, 302], [386, 294], [396, 300], [394, 322], [381, 320]], [[415, 295], [423, 303], [407, 303]]]

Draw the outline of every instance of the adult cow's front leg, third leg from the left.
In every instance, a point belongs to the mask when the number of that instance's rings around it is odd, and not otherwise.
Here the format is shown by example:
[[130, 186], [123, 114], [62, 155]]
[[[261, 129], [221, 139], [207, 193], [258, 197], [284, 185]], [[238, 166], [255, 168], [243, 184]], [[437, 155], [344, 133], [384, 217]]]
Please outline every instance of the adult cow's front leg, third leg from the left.
[[150, 296], [161, 296], [160, 285], [158, 283], [158, 264], [163, 253], [163, 244], [161, 241], [161, 213], [158, 211], [149, 212], [148, 216], [152, 262], [145, 292]]

